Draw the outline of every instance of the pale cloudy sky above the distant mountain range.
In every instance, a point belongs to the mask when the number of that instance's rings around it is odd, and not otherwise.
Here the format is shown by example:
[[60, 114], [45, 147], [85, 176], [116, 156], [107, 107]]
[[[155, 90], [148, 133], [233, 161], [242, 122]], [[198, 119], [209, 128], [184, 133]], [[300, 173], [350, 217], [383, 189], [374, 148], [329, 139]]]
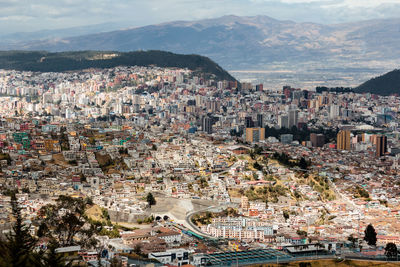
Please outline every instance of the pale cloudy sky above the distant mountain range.
[[224, 15], [333, 24], [400, 17], [400, 0], [0, 0], [0, 36], [103, 23], [137, 27]]

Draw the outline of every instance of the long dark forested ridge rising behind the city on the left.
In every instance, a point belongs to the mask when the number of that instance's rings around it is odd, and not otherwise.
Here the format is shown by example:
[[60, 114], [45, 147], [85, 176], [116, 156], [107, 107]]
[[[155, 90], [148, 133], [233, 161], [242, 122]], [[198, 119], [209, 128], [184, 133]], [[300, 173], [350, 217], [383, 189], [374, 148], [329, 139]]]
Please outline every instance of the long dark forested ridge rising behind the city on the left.
[[188, 68], [218, 80], [236, 81], [228, 72], [207, 57], [178, 55], [164, 51], [80, 51], [50, 53], [42, 51], [1, 51], [0, 69], [62, 72], [117, 66], [150, 66]]

